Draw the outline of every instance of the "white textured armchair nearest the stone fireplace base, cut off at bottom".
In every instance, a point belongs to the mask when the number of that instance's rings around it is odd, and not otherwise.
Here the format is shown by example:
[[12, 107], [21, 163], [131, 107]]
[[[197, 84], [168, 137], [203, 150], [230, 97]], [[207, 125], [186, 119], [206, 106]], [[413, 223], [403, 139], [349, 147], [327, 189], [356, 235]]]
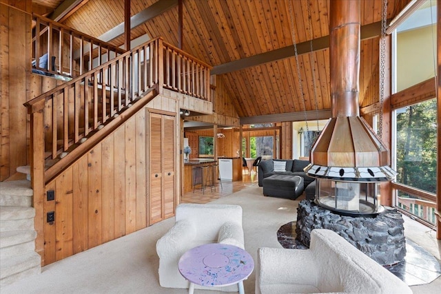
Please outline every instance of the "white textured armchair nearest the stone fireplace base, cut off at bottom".
[[259, 248], [256, 294], [412, 293], [336, 232], [314, 229], [309, 249]]

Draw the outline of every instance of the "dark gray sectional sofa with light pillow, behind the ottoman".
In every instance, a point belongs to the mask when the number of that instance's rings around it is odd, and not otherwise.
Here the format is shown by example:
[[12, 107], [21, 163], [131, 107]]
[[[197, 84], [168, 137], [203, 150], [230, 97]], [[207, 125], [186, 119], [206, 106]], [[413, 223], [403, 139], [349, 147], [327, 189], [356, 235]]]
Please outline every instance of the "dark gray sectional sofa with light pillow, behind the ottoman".
[[[274, 171], [274, 162], [286, 162], [285, 171]], [[259, 187], [263, 187], [263, 179], [275, 174], [287, 175], [287, 176], [300, 176], [303, 178], [303, 189], [305, 189], [307, 192], [306, 198], [309, 200], [313, 200], [316, 193], [315, 179], [307, 176], [305, 171], [303, 171], [303, 169], [305, 169], [305, 167], [307, 167], [309, 163], [310, 163], [309, 160], [300, 160], [300, 159], [262, 160], [259, 163], [258, 185]], [[311, 187], [308, 189], [308, 186], [310, 184]]]

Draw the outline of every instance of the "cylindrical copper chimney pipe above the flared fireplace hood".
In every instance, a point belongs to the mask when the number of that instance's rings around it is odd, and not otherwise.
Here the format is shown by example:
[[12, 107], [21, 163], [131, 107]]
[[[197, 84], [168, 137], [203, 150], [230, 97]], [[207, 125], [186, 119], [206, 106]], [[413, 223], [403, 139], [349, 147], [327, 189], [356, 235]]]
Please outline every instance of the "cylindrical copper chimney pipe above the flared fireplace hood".
[[332, 117], [358, 116], [360, 1], [331, 0], [329, 12]]

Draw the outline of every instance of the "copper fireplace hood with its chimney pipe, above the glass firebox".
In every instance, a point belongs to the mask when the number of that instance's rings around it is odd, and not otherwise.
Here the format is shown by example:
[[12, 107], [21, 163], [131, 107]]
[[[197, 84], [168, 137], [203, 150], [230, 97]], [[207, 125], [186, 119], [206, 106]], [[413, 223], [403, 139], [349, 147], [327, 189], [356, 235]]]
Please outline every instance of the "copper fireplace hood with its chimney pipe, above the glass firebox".
[[360, 1], [331, 1], [330, 78], [332, 118], [311, 149], [305, 171], [314, 178], [379, 182], [393, 180], [389, 150], [360, 118]]

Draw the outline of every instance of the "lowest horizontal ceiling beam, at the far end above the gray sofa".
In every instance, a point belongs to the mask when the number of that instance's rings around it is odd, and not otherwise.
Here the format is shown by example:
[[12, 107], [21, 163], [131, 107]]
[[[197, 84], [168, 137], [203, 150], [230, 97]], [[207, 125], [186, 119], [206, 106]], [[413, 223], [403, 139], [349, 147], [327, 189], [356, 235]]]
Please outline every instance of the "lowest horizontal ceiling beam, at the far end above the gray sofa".
[[[306, 112], [308, 120], [322, 120], [331, 117], [331, 109], [311, 110]], [[285, 114], [268, 114], [265, 116], [248, 116], [239, 118], [240, 125], [251, 125], [254, 123], [279, 123], [282, 121], [303, 121], [305, 112], [288, 112]]]

